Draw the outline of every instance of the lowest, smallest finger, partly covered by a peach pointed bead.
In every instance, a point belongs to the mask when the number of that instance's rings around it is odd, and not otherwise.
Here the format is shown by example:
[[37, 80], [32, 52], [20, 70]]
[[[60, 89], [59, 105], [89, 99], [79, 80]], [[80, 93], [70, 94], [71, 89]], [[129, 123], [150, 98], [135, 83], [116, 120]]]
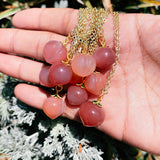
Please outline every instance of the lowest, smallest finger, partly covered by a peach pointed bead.
[[[50, 96], [41, 88], [28, 84], [17, 85], [15, 87], [14, 93], [19, 100], [38, 109], [42, 109], [44, 101], [48, 96]], [[65, 96], [63, 97], [63, 100], [65, 100]], [[78, 108], [70, 108], [66, 105], [63, 116], [69, 119], [77, 120], [77, 112]]]

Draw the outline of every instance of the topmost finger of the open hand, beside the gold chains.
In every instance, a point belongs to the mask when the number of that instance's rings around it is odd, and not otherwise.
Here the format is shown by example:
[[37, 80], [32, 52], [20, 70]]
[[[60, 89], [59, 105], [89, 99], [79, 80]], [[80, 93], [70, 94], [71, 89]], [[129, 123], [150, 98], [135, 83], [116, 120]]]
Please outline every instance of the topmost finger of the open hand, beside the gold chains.
[[34, 8], [17, 13], [12, 22], [17, 28], [46, 30], [67, 35], [77, 22], [77, 12], [68, 8]]

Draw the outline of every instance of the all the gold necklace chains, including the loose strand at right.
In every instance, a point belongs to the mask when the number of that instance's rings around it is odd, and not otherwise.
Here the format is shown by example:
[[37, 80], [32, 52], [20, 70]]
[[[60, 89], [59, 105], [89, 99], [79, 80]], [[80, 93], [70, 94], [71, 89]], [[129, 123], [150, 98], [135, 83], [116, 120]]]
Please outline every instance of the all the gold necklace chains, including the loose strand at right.
[[106, 11], [104, 9], [98, 10], [96, 8], [79, 9], [78, 23], [63, 42], [63, 45], [66, 46], [66, 48], [67, 45], [70, 45], [67, 53], [67, 61], [65, 62], [67, 64], [69, 64], [69, 62], [73, 59], [74, 54], [82, 53], [93, 55], [96, 48], [108, 47], [106, 46], [105, 42], [103, 24], [107, 20], [109, 14], [113, 15], [114, 48], [116, 52], [116, 58], [107, 77], [107, 82], [105, 83], [101, 95], [98, 98], [98, 105], [100, 104], [103, 96], [108, 93], [111, 80], [118, 64], [120, 49], [119, 13], [112, 12], [110, 10]]

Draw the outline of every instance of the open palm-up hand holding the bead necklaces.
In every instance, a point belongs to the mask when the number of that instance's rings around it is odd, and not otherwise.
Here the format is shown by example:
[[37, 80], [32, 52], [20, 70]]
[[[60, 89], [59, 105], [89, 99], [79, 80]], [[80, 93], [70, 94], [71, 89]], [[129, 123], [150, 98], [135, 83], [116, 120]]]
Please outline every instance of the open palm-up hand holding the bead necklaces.
[[[44, 45], [49, 40], [63, 41], [76, 20], [77, 11], [73, 9], [30, 9], [16, 14], [16, 29], [0, 29], [0, 71], [39, 84], [44, 64], [19, 55], [43, 61]], [[160, 154], [159, 28], [159, 16], [120, 14], [120, 59], [109, 93], [102, 101], [105, 121], [98, 127], [118, 140], [156, 154]], [[112, 26], [106, 23], [104, 30], [112, 46]], [[41, 109], [48, 93], [19, 84], [15, 95]], [[76, 113], [77, 109], [66, 105], [63, 116], [76, 119]]]

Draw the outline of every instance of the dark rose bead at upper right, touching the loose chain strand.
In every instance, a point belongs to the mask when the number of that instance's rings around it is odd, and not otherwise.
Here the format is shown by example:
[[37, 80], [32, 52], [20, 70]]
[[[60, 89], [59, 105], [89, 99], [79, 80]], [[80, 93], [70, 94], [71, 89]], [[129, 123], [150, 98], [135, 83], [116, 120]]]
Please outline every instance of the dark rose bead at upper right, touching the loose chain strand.
[[93, 54], [99, 69], [108, 69], [115, 62], [115, 52], [108, 47], [98, 48]]

